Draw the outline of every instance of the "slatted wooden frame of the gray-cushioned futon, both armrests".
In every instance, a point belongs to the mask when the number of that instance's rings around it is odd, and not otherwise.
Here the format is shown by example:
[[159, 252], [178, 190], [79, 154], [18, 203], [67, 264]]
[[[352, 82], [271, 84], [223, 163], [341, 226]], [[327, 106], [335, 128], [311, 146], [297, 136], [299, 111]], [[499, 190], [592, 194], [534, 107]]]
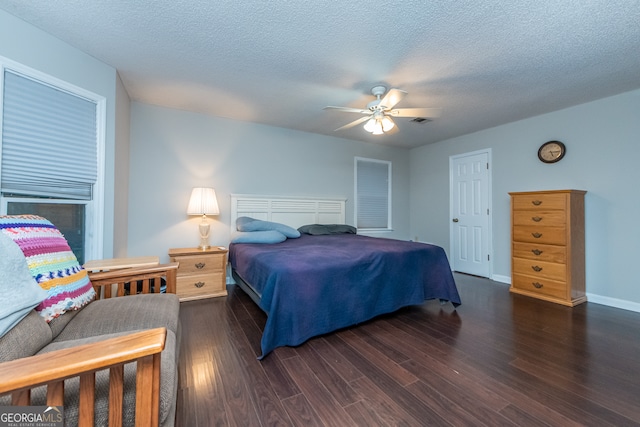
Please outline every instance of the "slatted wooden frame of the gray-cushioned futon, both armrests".
[[[120, 267], [90, 272], [89, 277], [101, 298], [124, 296], [125, 283], [137, 283], [141, 293], [160, 291], [161, 278], [166, 292], [175, 293], [178, 263]], [[91, 265], [90, 265], [91, 267]], [[150, 286], [154, 280], [156, 286]], [[130, 285], [133, 286], [133, 285]], [[112, 292], [112, 287], [116, 292]], [[98, 298], [98, 297], [97, 297]], [[124, 365], [137, 362], [135, 425], [159, 425], [160, 353], [164, 349], [166, 328], [148, 329], [93, 344], [52, 351], [0, 363], [0, 396], [11, 395], [12, 405], [31, 405], [31, 390], [46, 387], [46, 405], [64, 405], [64, 380], [79, 377], [79, 425], [94, 425], [96, 372], [109, 369], [109, 425], [122, 425]], [[151, 392], [150, 392], [151, 391]]]

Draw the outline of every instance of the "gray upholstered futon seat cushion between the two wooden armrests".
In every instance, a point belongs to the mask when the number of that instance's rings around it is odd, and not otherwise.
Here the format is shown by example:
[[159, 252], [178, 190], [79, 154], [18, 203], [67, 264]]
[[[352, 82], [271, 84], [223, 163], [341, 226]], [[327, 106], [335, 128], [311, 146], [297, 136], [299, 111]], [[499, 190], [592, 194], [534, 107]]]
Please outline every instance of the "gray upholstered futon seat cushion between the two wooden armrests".
[[162, 328], [178, 332], [180, 300], [175, 294], [139, 294], [101, 299], [80, 310], [54, 341]]

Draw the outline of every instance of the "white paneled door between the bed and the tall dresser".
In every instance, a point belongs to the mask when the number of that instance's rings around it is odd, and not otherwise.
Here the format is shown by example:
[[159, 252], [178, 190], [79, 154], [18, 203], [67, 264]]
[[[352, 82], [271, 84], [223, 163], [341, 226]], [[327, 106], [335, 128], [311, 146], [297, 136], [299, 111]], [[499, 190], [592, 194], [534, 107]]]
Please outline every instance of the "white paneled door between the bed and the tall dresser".
[[490, 274], [490, 150], [452, 156], [451, 253], [455, 271]]

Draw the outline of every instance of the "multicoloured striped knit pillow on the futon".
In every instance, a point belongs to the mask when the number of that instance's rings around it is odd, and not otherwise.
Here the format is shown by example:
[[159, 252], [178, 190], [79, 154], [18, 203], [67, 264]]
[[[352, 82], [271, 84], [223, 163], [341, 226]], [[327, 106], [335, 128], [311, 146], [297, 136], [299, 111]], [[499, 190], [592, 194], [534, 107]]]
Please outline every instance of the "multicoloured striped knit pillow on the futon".
[[36, 307], [47, 322], [94, 299], [87, 272], [51, 222], [36, 215], [0, 216], [0, 232], [18, 244], [31, 276], [47, 291], [47, 298]]

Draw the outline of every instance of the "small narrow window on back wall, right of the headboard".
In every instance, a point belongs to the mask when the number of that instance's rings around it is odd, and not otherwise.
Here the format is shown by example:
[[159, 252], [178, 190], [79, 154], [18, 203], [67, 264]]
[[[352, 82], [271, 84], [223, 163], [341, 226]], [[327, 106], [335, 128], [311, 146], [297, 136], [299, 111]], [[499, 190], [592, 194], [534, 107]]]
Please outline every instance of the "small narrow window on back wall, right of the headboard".
[[391, 230], [391, 162], [356, 157], [355, 195], [358, 230]]

